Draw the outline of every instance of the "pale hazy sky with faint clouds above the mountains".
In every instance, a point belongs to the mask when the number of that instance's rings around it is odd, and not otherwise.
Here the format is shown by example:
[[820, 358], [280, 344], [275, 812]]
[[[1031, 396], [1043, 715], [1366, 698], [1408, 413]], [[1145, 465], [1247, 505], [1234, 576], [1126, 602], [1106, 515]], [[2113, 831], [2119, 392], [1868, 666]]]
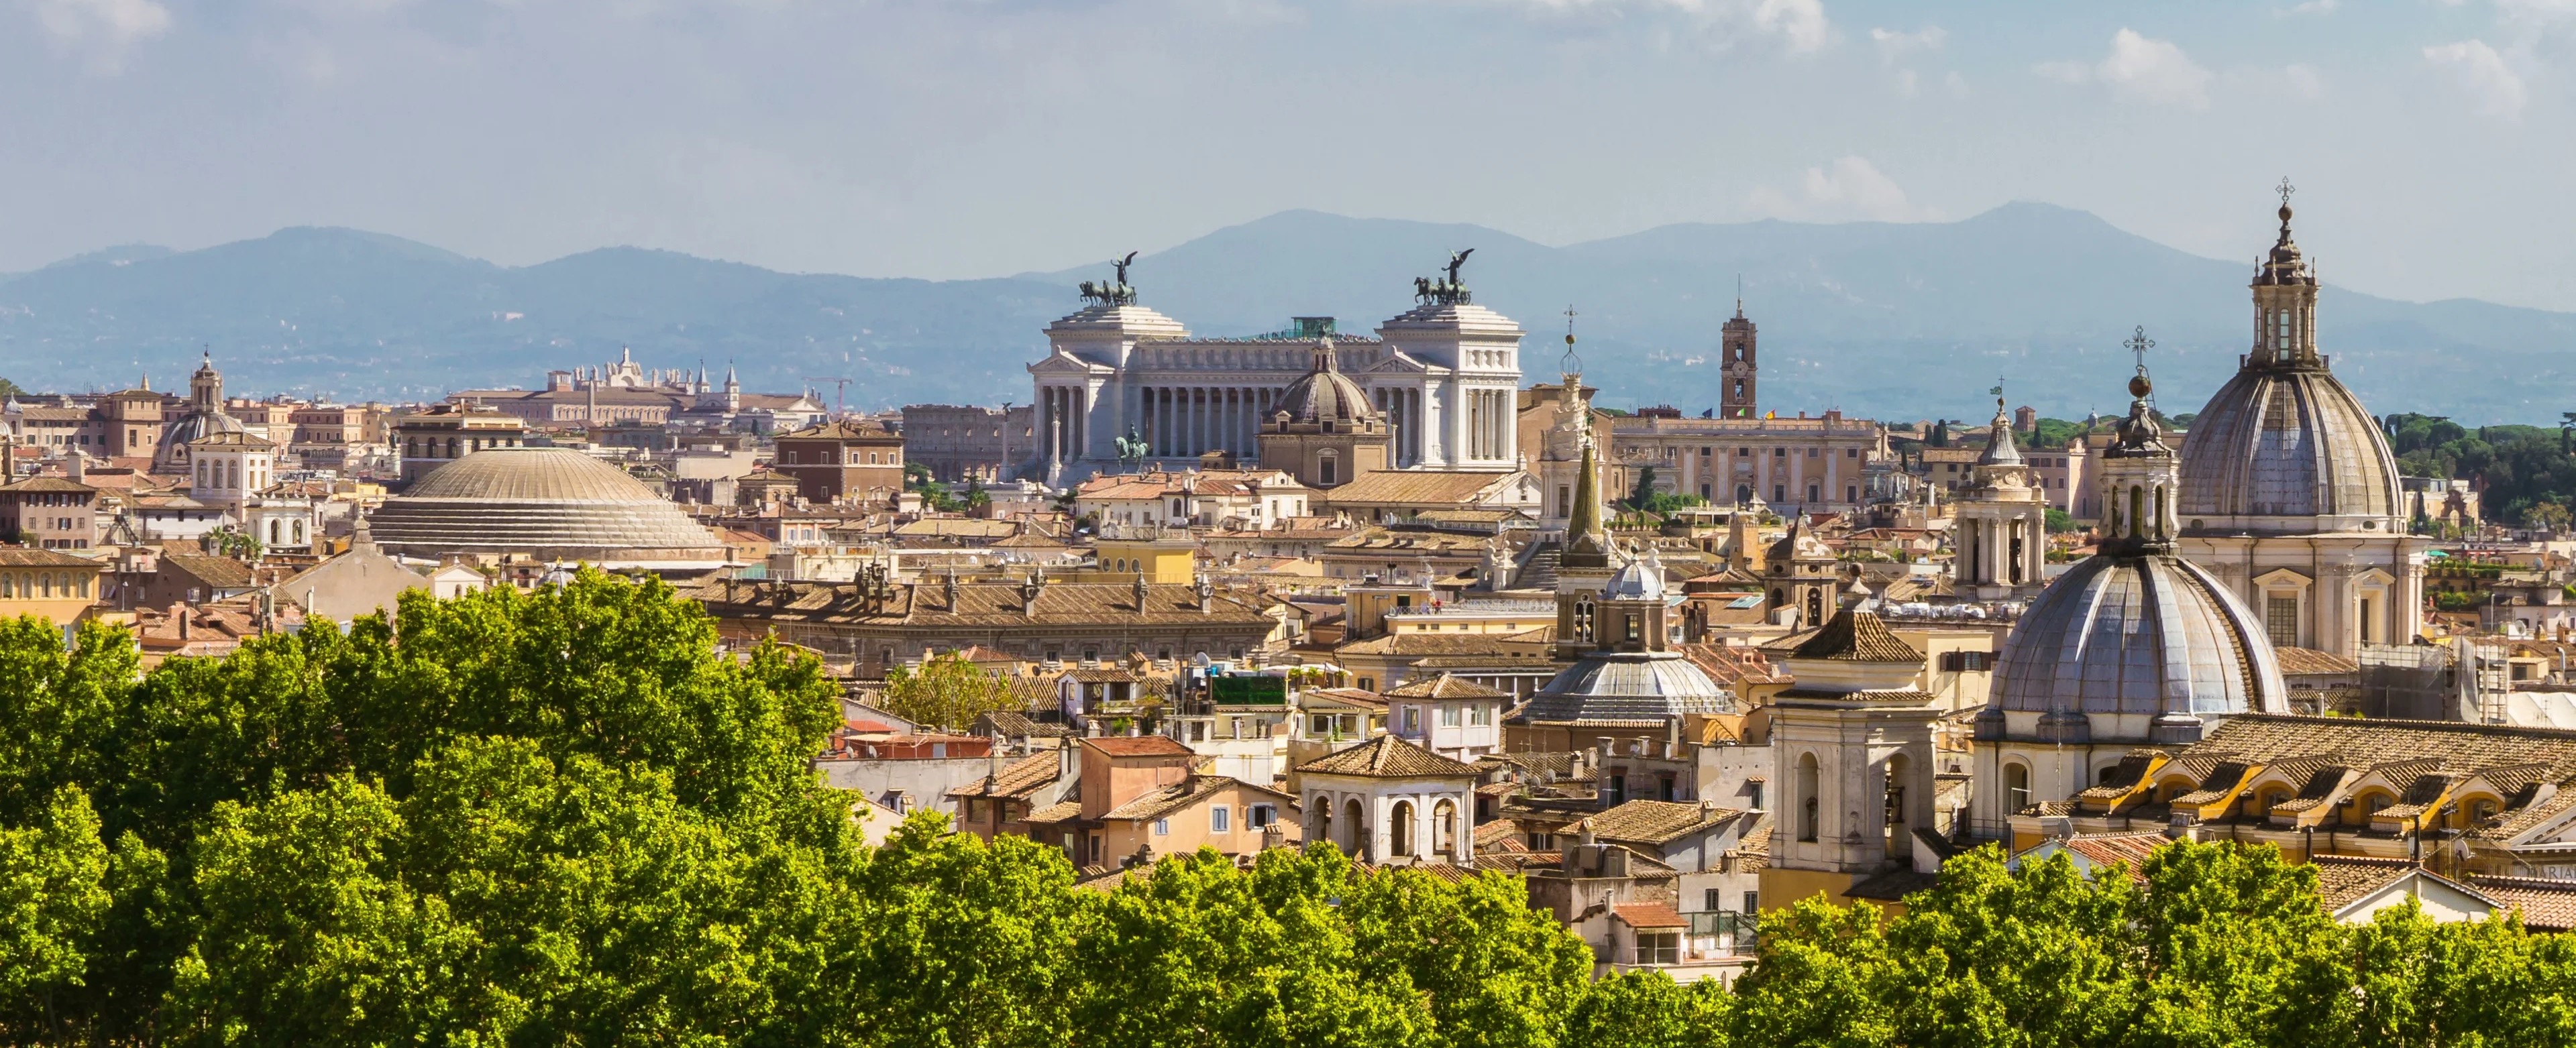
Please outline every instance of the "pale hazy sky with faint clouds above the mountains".
[[[2576, 0], [0, 0], [0, 270], [289, 224], [999, 276], [2012, 198], [2576, 309]], [[2069, 260], [2081, 263], [2081, 260]]]

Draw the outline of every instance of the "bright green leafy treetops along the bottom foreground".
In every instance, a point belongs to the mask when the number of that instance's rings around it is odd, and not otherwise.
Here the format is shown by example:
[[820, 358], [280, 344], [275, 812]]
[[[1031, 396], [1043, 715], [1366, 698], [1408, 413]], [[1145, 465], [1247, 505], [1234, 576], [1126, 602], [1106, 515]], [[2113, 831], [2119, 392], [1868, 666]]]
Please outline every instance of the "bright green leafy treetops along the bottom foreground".
[[657, 582], [137, 667], [106, 626], [0, 623], [0, 1043], [2576, 1043], [2566, 937], [2336, 924], [2231, 845], [1798, 901], [1734, 991], [1595, 978], [1504, 873], [1314, 845], [1079, 883], [938, 811], [866, 847], [809, 765], [832, 682], [719, 651]]

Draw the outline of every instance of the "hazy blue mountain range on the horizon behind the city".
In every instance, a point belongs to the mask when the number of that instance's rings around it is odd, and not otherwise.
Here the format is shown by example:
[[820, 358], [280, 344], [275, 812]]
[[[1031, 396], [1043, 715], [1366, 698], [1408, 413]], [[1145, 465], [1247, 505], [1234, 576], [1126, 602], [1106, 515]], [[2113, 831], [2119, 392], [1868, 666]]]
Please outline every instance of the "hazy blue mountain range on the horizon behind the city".
[[[1736, 278], [1762, 327], [1765, 407], [1978, 420], [2014, 404], [2115, 412], [2136, 324], [2161, 407], [2197, 409], [2251, 330], [2251, 263], [2187, 255], [2084, 211], [2012, 203], [1947, 224], [1674, 224], [1548, 247], [1466, 224], [1283, 211], [1136, 260], [1139, 299], [1200, 335], [1332, 314], [1365, 332], [1412, 278], [1476, 247], [1476, 301], [1530, 330], [1522, 371], [1558, 368], [1571, 304], [1605, 404], [1716, 404], [1716, 324]], [[533, 386], [616, 358], [742, 368], [750, 389], [850, 376], [853, 407], [1025, 402], [1041, 327], [1108, 265], [992, 281], [796, 276], [608, 247], [502, 268], [355, 229], [281, 229], [167, 252], [147, 245], [0, 276], [0, 376], [28, 389], [155, 389], [198, 348], [232, 389], [433, 399]], [[2576, 314], [2406, 304], [2342, 288], [2321, 342], [2375, 412], [2553, 422], [2576, 402]], [[829, 384], [822, 384], [829, 394]]]

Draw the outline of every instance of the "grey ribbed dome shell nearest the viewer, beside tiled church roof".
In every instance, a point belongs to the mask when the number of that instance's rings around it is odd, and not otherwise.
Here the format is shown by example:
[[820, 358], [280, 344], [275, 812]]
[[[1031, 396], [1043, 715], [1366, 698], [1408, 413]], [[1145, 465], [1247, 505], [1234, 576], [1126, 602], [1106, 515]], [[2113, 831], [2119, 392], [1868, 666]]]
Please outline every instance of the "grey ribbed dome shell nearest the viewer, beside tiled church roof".
[[2040, 590], [1994, 669], [1989, 711], [2287, 713], [2262, 623], [2197, 564], [2092, 556]]

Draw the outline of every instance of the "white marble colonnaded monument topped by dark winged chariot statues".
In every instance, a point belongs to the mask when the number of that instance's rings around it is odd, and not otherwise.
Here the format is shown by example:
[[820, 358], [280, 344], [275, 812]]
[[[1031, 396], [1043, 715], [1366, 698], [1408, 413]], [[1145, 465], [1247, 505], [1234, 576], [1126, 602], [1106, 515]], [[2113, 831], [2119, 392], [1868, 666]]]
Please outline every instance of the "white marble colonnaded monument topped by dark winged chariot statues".
[[[1123, 273], [1121, 273], [1123, 276]], [[1203, 451], [1260, 456], [1255, 435], [1280, 391], [1314, 368], [1332, 337], [1337, 366], [1386, 415], [1396, 469], [1507, 471], [1520, 389], [1520, 324], [1473, 304], [1455, 283], [1427, 283], [1422, 304], [1376, 337], [1337, 332], [1332, 317], [1255, 337], [1198, 337], [1113, 283], [1092, 304], [1046, 324], [1048, 353], [1030, 363], [1036, 448], [1020, 469], [1051, 484], [1118, 469], [1136, 433], [1149, 463], [1188, 466]]]

